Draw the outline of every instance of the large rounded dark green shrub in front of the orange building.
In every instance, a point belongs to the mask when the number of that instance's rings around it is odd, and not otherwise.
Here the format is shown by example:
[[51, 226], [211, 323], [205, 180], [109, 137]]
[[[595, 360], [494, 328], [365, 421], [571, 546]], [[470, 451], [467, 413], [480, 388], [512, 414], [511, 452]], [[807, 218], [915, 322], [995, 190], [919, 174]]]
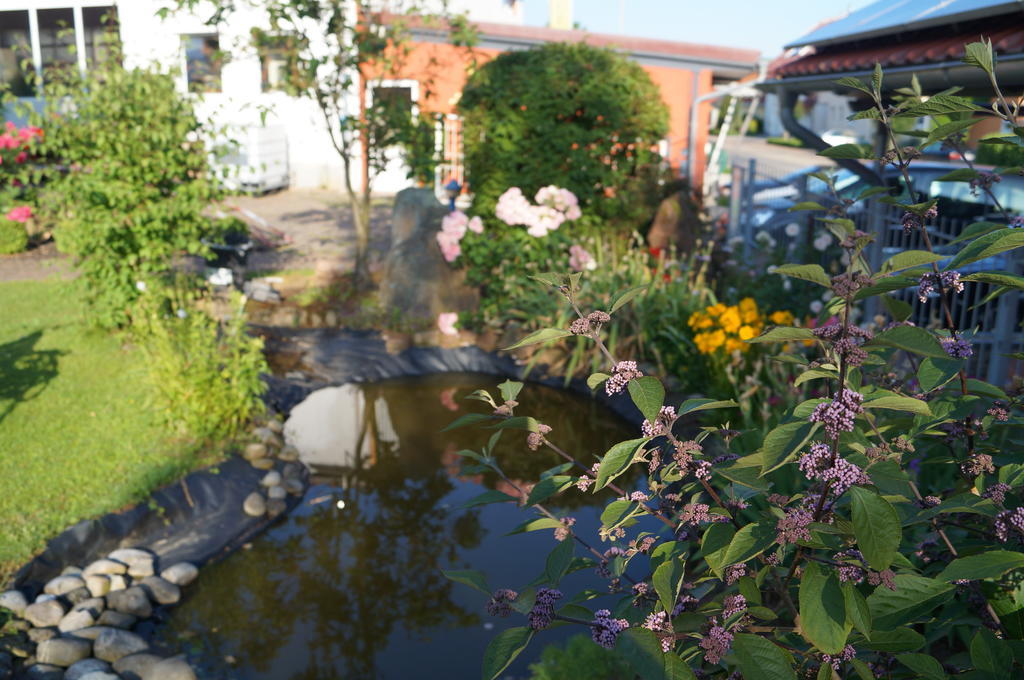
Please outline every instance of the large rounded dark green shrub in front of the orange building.
[[531, 197], [555, 179], [627, 233], [653, 214], [668, 109], [627, 57], [583, 43], [504, 52], [469, 78], [459, 112], [473, 210], [485, 220], [508, 187]]

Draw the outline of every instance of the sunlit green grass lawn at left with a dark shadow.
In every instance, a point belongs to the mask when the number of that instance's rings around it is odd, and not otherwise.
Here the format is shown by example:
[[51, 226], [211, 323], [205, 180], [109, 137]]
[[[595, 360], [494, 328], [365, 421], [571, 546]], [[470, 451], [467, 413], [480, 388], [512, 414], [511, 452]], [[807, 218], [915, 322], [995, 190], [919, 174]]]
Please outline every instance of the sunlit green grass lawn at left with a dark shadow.
[[195, 464], [150, 405], [141, 353], [63, 282], [0, 284], [0, 585], [74, 522]]

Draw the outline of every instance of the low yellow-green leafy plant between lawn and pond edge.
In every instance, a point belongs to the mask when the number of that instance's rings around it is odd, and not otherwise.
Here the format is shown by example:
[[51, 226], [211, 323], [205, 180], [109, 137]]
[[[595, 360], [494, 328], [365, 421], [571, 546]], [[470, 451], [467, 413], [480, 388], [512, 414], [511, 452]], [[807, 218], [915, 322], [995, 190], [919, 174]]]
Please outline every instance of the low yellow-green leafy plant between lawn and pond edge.
[[238, 435], [263, 411], [260, 374], [269, 371], [263, 341], [246, 332], [240, 297], [218, 321], [213, 301], [187, 280], [138, 289], [132, 331], [168, 424], [199, 442]]

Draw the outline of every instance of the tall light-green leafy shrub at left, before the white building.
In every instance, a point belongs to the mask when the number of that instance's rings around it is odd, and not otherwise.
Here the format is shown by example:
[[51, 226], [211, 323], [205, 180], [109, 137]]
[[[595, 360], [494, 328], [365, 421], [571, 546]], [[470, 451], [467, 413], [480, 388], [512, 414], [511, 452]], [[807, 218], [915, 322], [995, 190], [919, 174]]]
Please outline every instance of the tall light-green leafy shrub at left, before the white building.
[[[71, 253], [95, 321], [130, 321], [135, 282], [166, 270], [178, 254], [206, 252], [214, 226], [203, 213], [220, 196], [191, 101], [170, 73], [126, 70], [116, 60], [48, 78], [40, 144], [45, 176], [62, 198], [49, 215]], [[52, 195], [52, 193], [51, 193]]]

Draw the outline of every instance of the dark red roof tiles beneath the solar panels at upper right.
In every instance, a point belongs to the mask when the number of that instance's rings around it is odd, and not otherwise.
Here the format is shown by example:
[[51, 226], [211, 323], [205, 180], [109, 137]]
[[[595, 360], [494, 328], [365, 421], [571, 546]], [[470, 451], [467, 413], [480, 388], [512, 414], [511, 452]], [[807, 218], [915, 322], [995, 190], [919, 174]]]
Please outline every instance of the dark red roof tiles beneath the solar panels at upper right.
[[[998, 54], [1024, 51], [1022, 26], [995, 31], [986, 37], [991, 38]], [[872, 47], [812, 51], [795, 57], [783, 55], [769, 66], [769, 74], [772, 79], [779, 79], [865, 71], [873, 69], [876, 62], [883, 67], [903, 67], [957, 61], [964, 56], [964, 45], [978, 39], [977, 32], [970, 32]]]

